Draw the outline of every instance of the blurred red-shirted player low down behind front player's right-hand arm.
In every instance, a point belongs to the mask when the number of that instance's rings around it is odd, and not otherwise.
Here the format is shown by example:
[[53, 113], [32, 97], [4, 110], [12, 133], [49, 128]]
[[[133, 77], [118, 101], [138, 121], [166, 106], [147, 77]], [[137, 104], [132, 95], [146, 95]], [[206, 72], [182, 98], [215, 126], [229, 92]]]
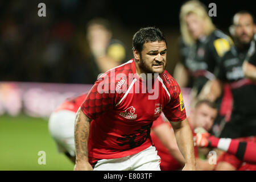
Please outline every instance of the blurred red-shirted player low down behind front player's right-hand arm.
[[[201, 100], [191, 109], [188, 121], [192, 130], [197, 127], [203, 127], [206, 131], [210, 131], [216, 117], [216, 105], [208, 100]], [[193, 135], [195, 136], [194, 133]], [[177, 147], [174, 131], [172, 130], [168, 119], [164, 117], [164, 114], [161, 114], [160, 117], [154, 121], [152, 125], [151, 139], [161, 158], [161, 170], [179, 170], [184, 166], [185, 161]], [[207, 154], [208, 152], [209, 151], [207, 151]], [[197, 157], [197, 170], [210, 170], [213, 168], [208, 164], [208, 161], [200, 160], [198, 158], [199, 155], [196, 147], [195, 156]]]

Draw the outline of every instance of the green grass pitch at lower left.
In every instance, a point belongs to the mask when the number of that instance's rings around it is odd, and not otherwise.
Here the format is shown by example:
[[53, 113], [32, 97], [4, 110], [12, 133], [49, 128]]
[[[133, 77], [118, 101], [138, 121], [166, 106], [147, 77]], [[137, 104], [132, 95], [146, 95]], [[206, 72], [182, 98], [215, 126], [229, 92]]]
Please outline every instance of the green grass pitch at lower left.
[[[0, 170], [73, 170], [73, 163], [57, 152], [49, 135], [48, 121], [20, 114], [0, 116]], [[39, 151], [46, 152], [46, 164], [38, 164]]]

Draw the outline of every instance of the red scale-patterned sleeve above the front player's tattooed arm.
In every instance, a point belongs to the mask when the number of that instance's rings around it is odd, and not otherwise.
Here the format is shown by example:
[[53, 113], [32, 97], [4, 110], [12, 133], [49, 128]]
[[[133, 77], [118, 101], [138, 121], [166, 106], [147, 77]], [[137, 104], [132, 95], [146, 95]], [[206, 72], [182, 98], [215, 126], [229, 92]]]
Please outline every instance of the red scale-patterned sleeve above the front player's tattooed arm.
[[98, 78], [82, 102], [81, 110], [88, 118], [96, 119], [114, 108], [115, 93], [110, 89], [112, 81], [109, 79], [108, 75]]

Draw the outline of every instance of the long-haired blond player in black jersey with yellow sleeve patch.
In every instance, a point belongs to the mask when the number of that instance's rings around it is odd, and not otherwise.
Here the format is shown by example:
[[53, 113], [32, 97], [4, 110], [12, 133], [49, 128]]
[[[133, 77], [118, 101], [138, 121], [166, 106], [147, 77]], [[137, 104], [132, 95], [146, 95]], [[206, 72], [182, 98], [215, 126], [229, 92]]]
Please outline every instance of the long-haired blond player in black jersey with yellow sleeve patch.
[[[185, 2], [180, 9], [181, 61], [174, 69], [174, 78], [181, 88], [191, 86], [192, 107], [197, 96], [208, 80], [215, 78], [213, 72], [221, 57], [233, 45], [232, 39], [217, 30], [208, 15], [207, 8], [200, 1]], [[219, 114], [214, 126], [214, 134], [219, 131], [219, 123], [231, 113], [230, 89], [225, 85], [224, 100], [216, 104]], [[221, 106], [225, 105], [225, 106]]]

